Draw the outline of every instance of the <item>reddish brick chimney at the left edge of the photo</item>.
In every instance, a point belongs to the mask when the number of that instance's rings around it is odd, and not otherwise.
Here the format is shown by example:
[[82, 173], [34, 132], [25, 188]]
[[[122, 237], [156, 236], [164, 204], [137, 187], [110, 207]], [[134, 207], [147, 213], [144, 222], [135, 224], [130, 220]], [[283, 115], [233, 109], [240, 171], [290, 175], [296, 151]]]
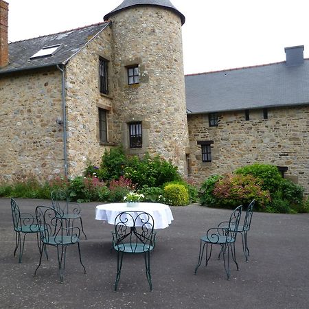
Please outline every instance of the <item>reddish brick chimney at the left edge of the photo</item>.
[[8, 2], [0, 0], [0, 67], [8, 63]]

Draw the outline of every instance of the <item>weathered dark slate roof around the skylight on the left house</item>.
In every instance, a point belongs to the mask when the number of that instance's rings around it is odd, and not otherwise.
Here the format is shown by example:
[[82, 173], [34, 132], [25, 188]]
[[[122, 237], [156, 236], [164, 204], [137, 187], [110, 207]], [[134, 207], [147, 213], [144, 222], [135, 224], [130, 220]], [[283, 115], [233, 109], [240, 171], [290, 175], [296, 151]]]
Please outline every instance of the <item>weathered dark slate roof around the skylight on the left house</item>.
[[[80, 52], [95, 36], [100, 34], [108, 22], [88, 25], [78, 29], [68, 30], [57, 34], [39, 36], [29, 40], [9, 44], [10, 64], [0, 69], [0, 74], [27, 69], [37, 69], [54, 65], [65, 65], [71, 57]], [[53, 56], [30, 59], [43, 47], [63, 44]]]

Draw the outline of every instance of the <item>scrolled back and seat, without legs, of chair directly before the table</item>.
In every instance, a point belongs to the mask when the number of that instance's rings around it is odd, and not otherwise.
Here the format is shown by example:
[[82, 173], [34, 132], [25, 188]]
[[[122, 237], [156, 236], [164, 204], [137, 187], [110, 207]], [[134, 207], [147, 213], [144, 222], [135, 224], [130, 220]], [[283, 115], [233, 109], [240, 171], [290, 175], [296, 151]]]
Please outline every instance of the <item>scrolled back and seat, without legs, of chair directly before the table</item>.
[[123, 211], [115, 218], [115, 245], [119, 251], [146, 252], [154, 247], [155, 222], [145, 211]]

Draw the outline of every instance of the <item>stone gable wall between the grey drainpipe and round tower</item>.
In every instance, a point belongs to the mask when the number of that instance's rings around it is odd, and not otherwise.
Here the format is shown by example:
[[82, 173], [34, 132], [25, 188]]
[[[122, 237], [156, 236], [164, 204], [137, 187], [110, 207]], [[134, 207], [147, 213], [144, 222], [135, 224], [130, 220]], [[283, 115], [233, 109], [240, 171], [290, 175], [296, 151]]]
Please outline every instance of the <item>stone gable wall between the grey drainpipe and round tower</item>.
[[100, 163], [104, 150], [111, 147], [100, 144], [98, 107], [108, 110], [108, 141], [111, 145], [115, 143], [111, 135], [112, 67], [111, 62], [108, 63], [109, 94], [100, 95], [99, 56], [111, 60], [109, 27], [73, 57], [66, 68], [67, 154], [71, 176], [82, 174], [88, 161]]

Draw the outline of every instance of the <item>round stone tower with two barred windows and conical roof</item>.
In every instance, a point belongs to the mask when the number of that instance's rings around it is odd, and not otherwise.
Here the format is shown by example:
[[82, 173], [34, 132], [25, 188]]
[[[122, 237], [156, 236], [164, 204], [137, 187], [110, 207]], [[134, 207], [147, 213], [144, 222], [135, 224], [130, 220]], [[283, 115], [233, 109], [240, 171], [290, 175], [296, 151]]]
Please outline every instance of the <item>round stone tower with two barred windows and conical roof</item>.
[[129, 154], [160, 155], [186, 175], [185, 16], [169, 0], [124, 0], [107, 20], [114, 45], [113, 139]]

